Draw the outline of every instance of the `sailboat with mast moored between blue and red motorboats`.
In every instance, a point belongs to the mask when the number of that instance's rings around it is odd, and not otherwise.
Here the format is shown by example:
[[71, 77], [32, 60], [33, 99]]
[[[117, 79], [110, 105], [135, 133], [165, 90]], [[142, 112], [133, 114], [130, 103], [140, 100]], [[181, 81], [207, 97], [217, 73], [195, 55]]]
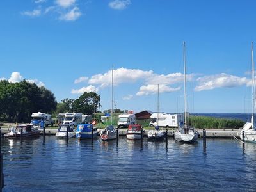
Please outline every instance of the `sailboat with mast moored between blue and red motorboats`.
[[102, 141], [116, 139], [116, 127], [113, 126], [113, 86], [114, 86], [114, 69], [112, 67], [112, 104], [111, 104], [111, 125], [108, 125], [100, 132]]

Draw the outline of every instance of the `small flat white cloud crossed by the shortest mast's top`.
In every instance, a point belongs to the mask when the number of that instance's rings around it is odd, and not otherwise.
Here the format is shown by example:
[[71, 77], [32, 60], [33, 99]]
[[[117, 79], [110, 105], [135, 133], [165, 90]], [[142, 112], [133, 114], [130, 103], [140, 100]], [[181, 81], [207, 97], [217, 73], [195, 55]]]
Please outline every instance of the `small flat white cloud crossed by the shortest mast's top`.
[[[159, 84], [159, 93], [176, 92], [177, 90], [180, 90], [180, 87], [172, 88], [166, 84]], [[156, 94], [156, 93], [157, 93], [157, 84], [148, 84], [147, 86], [145, 85], [141, 86], [139, 92], [137, 92], [136, 95], [142, 96], [142, 95], [150, 95], [150, 94]]]

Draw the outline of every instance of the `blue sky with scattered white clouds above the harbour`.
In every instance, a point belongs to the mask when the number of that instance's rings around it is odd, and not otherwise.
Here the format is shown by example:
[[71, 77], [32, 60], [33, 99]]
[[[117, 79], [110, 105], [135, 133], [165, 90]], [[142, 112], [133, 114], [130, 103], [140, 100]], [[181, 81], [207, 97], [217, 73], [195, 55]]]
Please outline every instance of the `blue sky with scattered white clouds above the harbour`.
[[186, 41], [192, 113], [250, 113], [255, 1], [6, 0], [0, 79], [27, 79], [61, 99], [96, 91], [102, 109], [182, 112]]

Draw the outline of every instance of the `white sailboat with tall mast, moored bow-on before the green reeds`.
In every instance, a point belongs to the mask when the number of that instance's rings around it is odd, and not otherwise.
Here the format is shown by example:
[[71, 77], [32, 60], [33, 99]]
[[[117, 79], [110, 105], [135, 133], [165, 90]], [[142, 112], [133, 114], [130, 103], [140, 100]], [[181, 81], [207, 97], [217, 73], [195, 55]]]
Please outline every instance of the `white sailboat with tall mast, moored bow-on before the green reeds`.
[[184, 62], [184, 125], [180, 126], [174, 133], [176, 141], [191, 143], [198, 138], [198, 132], [188, 124], [187, 117], [187, 93], [186, 93], [186, 57], [185, 57], [185, 42], [183, 42], [183, 62]]

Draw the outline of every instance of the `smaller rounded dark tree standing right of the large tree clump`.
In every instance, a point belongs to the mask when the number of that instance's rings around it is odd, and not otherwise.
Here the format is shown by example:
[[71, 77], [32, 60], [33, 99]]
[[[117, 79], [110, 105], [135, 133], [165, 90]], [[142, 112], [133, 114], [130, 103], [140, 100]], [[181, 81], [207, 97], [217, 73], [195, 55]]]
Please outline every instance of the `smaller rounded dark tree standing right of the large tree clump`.
[[100, 95], [95, 92], [84, 92], [78, 99], [74, 100], [72, 108], [76, 112], [92, 115], [100, 106]]

